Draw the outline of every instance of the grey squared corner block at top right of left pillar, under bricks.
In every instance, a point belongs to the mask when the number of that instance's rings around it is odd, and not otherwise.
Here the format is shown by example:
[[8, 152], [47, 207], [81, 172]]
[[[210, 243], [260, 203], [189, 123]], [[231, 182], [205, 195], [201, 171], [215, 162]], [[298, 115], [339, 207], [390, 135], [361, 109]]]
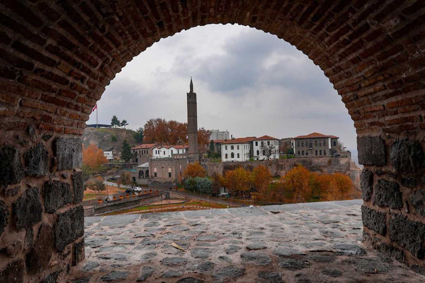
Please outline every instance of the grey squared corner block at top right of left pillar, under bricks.
[[53, 143], [54, 155], [57, 158], [57, 170], [81, 167], [82, 139], [57, 137]]

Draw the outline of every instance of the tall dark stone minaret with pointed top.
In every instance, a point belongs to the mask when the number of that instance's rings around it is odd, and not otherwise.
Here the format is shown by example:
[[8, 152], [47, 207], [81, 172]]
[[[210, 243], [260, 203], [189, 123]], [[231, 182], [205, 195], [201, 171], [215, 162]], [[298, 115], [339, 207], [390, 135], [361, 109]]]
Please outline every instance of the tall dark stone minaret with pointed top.
[[188, 156], [199, 160], [198, 150], [198, 110], [196, 109], [196, 93], [193, 92], [192, 77], [190, 77], [190, 92], [187, 93], [187, 140]]

